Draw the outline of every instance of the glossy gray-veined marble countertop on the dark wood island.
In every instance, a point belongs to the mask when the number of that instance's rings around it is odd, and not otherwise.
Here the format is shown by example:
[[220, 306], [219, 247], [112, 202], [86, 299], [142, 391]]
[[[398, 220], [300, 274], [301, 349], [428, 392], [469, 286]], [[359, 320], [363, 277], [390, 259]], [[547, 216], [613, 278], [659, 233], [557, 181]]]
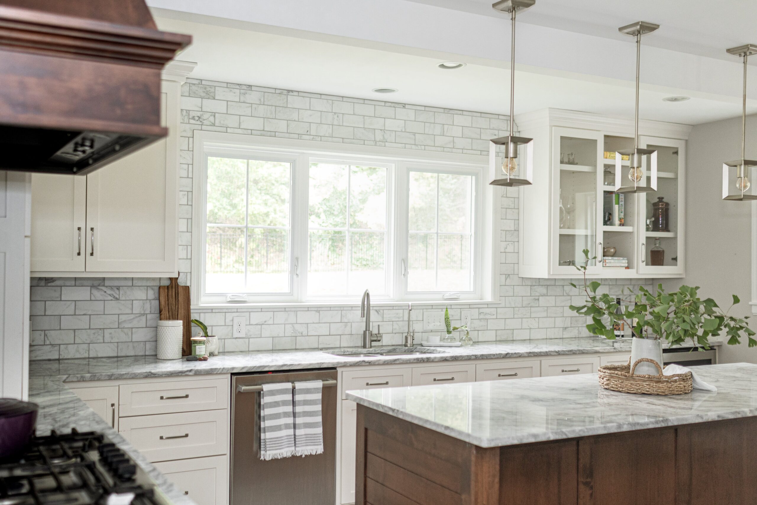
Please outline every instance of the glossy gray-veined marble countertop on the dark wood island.
[[479, 447], [757, 416], [757, 365], [696, 366], [696, 373], [718, 391], [618, 393], [586, 374], [348, 391], [347, 398]]

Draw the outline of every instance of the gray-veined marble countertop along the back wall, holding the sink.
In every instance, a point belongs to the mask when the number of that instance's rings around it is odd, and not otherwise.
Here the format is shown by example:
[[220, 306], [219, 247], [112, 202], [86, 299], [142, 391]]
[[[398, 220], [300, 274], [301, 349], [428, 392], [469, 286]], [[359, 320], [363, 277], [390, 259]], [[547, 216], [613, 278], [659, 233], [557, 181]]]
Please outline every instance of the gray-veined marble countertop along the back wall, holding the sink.
[[[720, 342], [712, 342], [718, 345]], [[374, 348], [372, 351], [380, 351]], [[426, 350], [427, 348], [420, 348]], [[400, 351], [404, 349], [400, 348]], [[337, 368], [341, 366], [433, 363], [453, 360], [488, 360], [506, 357], [557, 356], [631, 351], [631, 339], [615, 341], [597, 337], [552, 338], [476, 344], [467, 348], [435, 348], [433, 354], [391, 357], [346, 357], [329, 352], [370, 352], [357, 348], [307, 351], [222, 353], [207, 361], [158, 360], [154, 356], [101, 357], [45, 360], [30, 363], [30, 376], [64, 376], [66, 382], [145, 377], [194, 376], [210, 373], [261, 372], [269, 370]]]

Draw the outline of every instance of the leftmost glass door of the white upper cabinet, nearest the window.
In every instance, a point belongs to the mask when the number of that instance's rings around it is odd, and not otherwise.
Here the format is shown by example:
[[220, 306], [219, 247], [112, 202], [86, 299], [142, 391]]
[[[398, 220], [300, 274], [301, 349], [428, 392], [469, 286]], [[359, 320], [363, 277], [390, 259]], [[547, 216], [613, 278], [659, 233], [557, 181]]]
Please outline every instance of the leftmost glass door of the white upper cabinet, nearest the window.
[[553, 226], [551, 271], [575, 274], [589, 257], [589, 273], [599, 273], [601, 263], [601, 205], [598, 189], [603, 170], [598, 161], [602, 135], [584, 129], [553, 128]]

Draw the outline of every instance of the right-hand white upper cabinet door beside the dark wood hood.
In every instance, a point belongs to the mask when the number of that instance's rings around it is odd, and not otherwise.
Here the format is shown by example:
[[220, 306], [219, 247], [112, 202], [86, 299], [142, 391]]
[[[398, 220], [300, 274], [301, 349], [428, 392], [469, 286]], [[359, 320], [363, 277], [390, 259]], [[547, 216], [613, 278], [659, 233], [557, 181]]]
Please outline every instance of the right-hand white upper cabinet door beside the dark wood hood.
[[176, 273], [178, 97], [179, 83], [164, 81], [166, 138], [87, 176], [88, 272]]

